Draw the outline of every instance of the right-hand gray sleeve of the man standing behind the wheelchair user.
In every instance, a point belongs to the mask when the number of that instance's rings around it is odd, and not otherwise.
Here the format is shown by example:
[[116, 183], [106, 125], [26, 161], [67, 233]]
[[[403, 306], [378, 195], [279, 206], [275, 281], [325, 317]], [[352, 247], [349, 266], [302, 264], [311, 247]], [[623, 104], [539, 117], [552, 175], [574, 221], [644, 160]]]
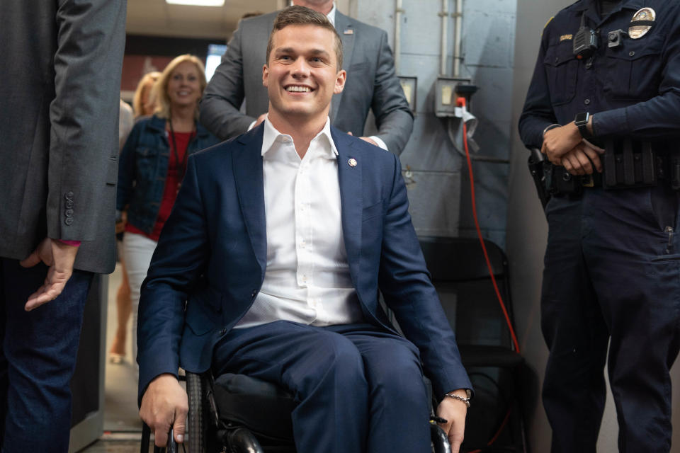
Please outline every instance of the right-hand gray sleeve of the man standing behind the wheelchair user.
[[378, 126], [378, 137], [392, 153], [402, 154], [413, 130], [413, 113], [395, 74], [395, 60], [387, 43], [387, 33], [380, 30], [378, 69], [373, 82], [371, 109]]

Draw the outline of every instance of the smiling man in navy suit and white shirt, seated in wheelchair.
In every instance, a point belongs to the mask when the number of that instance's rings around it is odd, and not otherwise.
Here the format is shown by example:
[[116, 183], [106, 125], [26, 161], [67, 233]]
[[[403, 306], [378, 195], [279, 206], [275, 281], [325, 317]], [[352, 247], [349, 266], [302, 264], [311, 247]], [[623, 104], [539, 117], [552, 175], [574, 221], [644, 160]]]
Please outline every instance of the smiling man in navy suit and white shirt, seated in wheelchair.
[[399, 159], [329, 125], [346, 72], [326, 16], [283, 10], [267, 56], [267, 119], [189, 157], [142, 286], [140, 415], [156, 445], [182, 442], [177, 369], [212, 367], [293, 394], [300, 452], [427, 452], [426, 372], [458, 452], [471, 384]]

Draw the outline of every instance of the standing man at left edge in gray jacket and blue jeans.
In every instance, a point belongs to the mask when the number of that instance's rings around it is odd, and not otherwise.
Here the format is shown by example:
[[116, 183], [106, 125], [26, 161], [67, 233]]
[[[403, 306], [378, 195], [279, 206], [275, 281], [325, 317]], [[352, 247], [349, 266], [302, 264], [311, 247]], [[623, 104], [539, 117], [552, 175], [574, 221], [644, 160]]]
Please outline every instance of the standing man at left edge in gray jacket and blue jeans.
[[93, 273], [114, 267], [124, 0], [3, 2], [0, 450], [66, 452]]

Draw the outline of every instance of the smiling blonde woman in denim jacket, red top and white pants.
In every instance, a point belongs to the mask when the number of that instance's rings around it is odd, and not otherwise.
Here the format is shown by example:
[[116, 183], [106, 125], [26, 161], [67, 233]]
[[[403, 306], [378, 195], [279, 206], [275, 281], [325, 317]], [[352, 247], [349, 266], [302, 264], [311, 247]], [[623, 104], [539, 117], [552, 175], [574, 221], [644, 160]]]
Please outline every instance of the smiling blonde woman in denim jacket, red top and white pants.
[[140, 287], [174, 205], [188, 155], [219, 142], [198, 122], [198, 101], [205, 85], [200, 59], [193, 55], [173, 59], [154, 84], [154, 114], [137, 120], [120, 154], [116, 214], [120, 217], [128, 206], [123, 254], [132, 299], [133, 356]]

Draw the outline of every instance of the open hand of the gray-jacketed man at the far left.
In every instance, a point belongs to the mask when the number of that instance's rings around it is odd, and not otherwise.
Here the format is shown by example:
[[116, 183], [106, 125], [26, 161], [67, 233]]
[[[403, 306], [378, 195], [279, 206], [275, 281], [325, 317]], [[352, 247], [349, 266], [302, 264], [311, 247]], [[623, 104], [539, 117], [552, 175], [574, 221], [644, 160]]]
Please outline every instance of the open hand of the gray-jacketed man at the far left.
[[24, 306], [26, 311], [31, 311], [62, 294], [66, 282], [73, 273], [73, 263], [77, 253], [77, 246], [69, 246], [56, 239], [45, 238], [28, 258], [19, 262], [24, 268], [33, 268], [40, 261], [50, 267], [47, 270], [45, 283], [28, 297], [26, 306]]

